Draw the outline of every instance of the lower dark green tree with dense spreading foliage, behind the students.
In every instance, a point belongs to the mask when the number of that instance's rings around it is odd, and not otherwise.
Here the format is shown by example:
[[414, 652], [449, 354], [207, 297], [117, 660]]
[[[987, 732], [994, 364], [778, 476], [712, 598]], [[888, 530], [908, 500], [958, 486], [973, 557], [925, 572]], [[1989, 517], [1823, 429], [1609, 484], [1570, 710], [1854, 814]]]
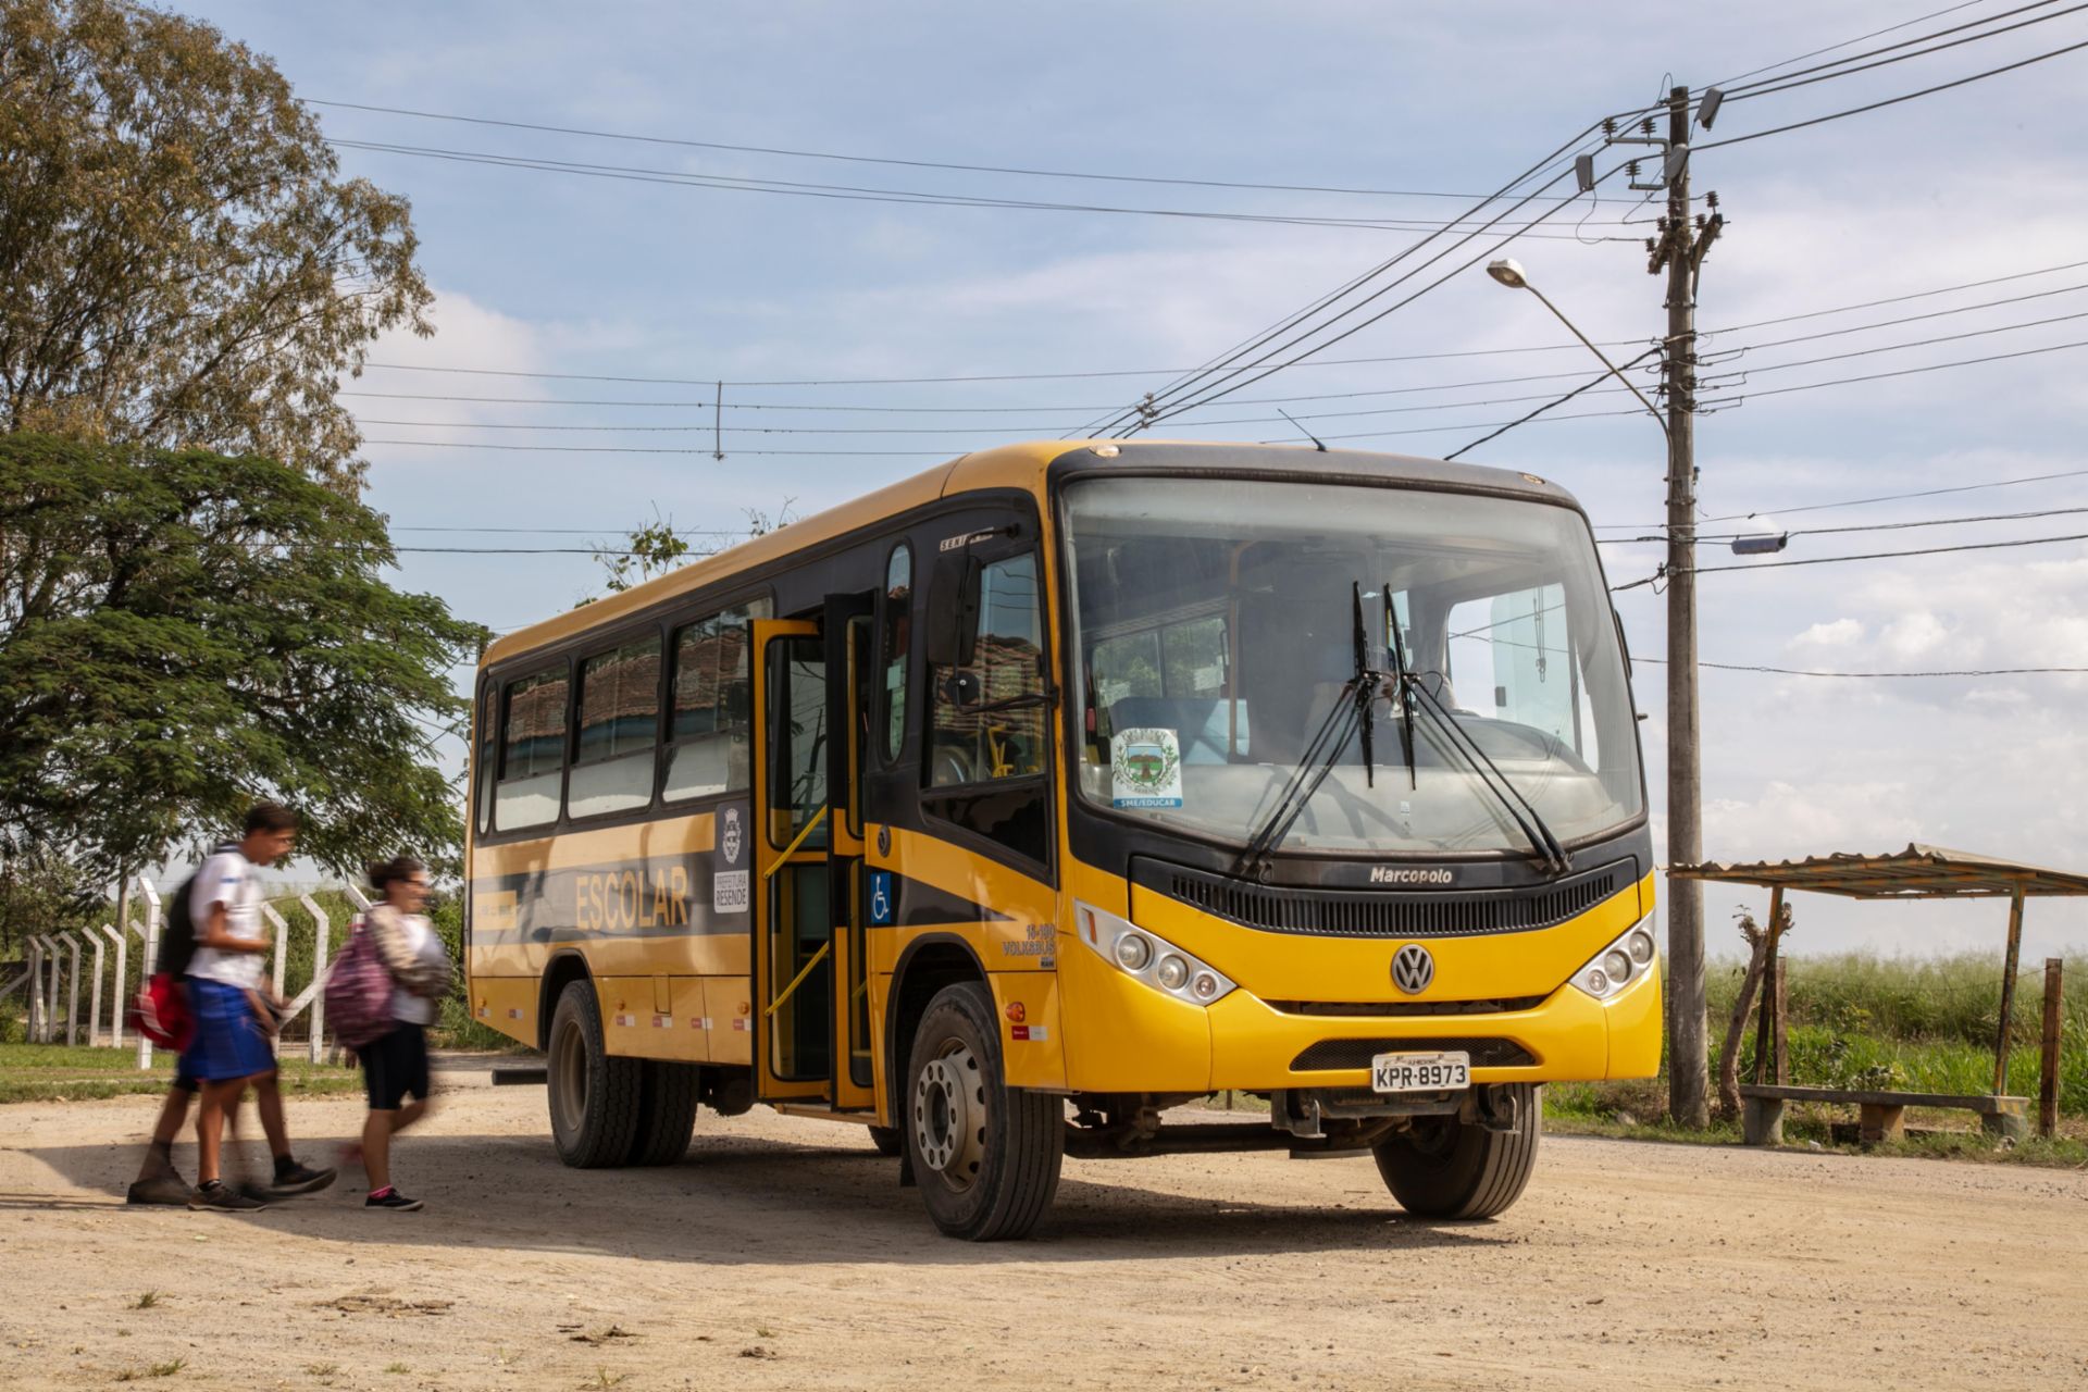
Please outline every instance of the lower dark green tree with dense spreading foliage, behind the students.
[[269, 459], [0, 436], [0, 856], [106, 883], [276, 797], [328, 868], [453, 860], [432, 733], [484, 628], [390, 561], [382, 518]]

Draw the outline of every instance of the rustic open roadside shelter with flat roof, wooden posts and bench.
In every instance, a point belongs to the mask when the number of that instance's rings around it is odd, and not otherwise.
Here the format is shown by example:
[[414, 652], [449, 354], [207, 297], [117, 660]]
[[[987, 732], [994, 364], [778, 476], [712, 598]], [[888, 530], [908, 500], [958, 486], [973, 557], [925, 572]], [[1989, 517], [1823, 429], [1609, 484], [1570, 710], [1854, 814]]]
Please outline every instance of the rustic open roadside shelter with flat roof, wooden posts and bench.
[[[1760, 1043], [1756, 1046], [1756, 1085], [1741, 1087], [1741, 1096], [1773, 1100], [1777, 1108], [1785, 1100], [1858, 1102], [1865, 1108], [1865, 1129], [1871, 1131], [1873, 1112], [1892, 1112], [1885, 1127], [1898, 1129], [1898, 1112], [1906, 1106], [1967, 1106], [1982, 1112], [1990, 1129], [2019, 1131], [2023, 1127], [2025, 1098], [2007, 1098], [2009, 1085], [2009, 1025], [2015, 1014], [2015, 975], [2023, 947], [2023, 899], [2044, 895], [2088, 895], [2088, 874], [2069, 870], [2048, 870], [2027, 866], [2017, 860], [1994, 856], [1973, 856], [1940, 845], [1911, 843], [1904, 851], [1890, 856], [1858, 856], [1840, 851], [1833, 856], [1810, 856], [1806, 860], [1762, 860], [1754, 864], [1704, 862], [1698, 866], [1670, 866], [1675, 879], [1718, 881], [1729, 885], [1758, 885], [1769, 889], [1769, 922], [1783, 920], [1783, 893], [1806, 889], [1812, 893], [1837, 893], [1846, 899], [2009, 899], [2009, 952], [2000, 977], [2000, 1023], [1994, 1033], [1994, 1091], [1982, 1098], [1929, 1098], [1923, 1094], [1835, 1094], [1825, 1087], [1771, 1087], [1762, 1083], [1762, 1060], [1773, 1029], [1775, 993], [1762, 991]], [[1777, 937], [1769, 935], [1769, 975], [1775, 973]], [[1833, 1096], [1827, 1096], [1833, 1094]], [[1777, 1110], [1781, 1121], [1781, 1110]], [[1752, 1108], [1750, 1108], [1752, 1121]], [[1750, 1139], [1754, 1139], [1750, 1125]]]

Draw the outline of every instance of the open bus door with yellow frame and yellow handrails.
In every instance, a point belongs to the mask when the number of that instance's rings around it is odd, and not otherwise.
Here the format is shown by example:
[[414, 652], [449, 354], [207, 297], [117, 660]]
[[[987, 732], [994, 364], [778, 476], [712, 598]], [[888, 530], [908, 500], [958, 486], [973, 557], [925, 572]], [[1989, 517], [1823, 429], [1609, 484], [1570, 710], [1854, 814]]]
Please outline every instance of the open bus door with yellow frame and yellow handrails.
[[754, 1081], [764, 1102], [875, 1106], [862, 943], [869, 605], [754, 622]]

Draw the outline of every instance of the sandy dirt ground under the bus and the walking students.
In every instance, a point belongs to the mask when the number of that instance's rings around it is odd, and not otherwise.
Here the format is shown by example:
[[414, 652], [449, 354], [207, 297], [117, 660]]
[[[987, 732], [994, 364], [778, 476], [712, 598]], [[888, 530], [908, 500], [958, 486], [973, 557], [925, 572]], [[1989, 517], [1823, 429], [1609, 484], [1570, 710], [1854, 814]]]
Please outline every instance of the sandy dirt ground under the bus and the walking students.
[[[1503, 1219], [1430, 1225], [1368, 1160], [1067, 1162], [1036, 1240], [965, 1246], [856, 1127], [568, 1171], [541, 1087], [445, 1081], [420, 1215], [355, 1175], [127, 1210], [155, 1100], [0, 1108], [0, 1386], [2088, 1386], [2080, 1173], [1549, 1137]], [[292, 1104], [307, 1154], [359, 1119]]]

